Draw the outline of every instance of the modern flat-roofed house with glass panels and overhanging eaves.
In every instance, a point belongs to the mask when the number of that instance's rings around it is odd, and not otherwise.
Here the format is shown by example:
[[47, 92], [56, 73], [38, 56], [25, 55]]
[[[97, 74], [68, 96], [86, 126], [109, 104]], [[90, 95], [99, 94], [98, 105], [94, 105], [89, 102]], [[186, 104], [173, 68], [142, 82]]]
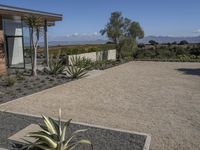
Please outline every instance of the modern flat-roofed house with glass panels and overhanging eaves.
[[8, 68], [25, 68], [25, 49], [30, 48], [29, 27], [25, 16], [39, 16], [43, 25], [44, 53], [48, 62], [47, 28], [62, 20], [61, 14], [36, 11], [0, 4], [0, 74]]

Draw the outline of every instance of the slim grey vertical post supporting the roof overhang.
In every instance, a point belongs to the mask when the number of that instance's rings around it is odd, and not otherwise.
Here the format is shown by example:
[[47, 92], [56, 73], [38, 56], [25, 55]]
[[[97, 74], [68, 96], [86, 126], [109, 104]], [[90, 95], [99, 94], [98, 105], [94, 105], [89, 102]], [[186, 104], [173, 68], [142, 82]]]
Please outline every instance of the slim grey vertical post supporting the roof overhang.
[[48, 46], [48, 31], [47, 31], [47, 20], [44, 21], [44, 55], [45, 63], [49, 66], [49, 46]]

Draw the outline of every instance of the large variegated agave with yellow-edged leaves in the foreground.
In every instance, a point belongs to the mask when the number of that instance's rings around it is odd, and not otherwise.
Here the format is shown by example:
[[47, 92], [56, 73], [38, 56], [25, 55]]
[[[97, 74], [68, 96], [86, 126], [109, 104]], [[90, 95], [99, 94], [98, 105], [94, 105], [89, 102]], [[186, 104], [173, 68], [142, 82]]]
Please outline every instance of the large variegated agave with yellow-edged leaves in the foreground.
[[81, 139], [76, 140], [77, 134], [87, 131], [87, 129], [76, 130], [67, 135], [69, 131], [69, 125], [71, 119], [67, 121], [63, 128], [61, 125], [61, 110], [59, 111], [59, 120], [58, 122], [50, 117], [42, 116], [44, 125], [39, 125], [41, 131], [31, 132], [27, 137], [35, 138], [35, 142], [30, 142], [25, 140], [28, 143], [27, 149], [35, 150], [74, 150], [80, 144], [88, 144], [92, 147], [92, 143], [89, 140]]

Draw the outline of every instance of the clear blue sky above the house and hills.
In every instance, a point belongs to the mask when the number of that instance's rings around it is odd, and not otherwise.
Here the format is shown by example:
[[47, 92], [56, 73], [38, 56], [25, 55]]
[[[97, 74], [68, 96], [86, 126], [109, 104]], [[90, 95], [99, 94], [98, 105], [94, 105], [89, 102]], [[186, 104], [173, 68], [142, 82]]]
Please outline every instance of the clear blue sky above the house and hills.
[[113, 11], [140, 22], [145, 35], [200, 35], [200, 0], [0, 0], [1, 4], [61, 13], [50, 37], [98, 36]]

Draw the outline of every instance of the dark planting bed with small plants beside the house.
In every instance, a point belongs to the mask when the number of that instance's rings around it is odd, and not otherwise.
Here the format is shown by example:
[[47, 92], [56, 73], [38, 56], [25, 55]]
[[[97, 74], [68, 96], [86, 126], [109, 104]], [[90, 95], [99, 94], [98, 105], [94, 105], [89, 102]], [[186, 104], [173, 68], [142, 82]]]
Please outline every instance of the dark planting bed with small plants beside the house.
[[14, 86], [7, 87], [0, 79], [0, 104], [5, 103], [26, 95], [30, 95], [66, 82], [72, 79], [66, 77], [66, 75], [52, 76], [44, 72], [38, 71], [38, 76], [33, 77], [25, 74], [25, 79], [16, 80]]

